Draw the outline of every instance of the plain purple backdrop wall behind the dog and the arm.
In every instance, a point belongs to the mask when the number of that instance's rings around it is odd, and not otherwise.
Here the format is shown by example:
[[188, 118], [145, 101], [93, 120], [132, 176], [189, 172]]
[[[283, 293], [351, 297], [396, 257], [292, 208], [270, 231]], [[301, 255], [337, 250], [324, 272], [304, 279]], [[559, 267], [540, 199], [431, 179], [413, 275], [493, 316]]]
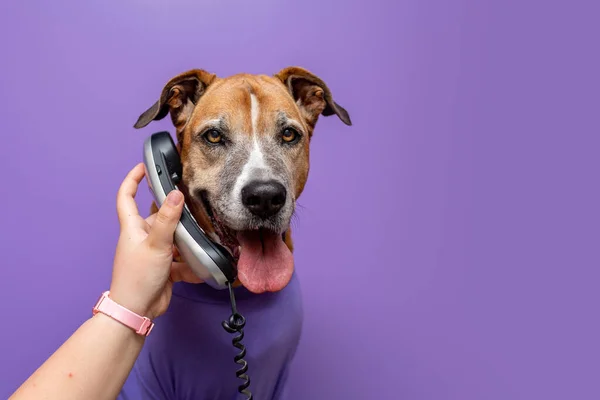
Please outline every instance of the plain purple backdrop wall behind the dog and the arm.
[[593, 3], [2, 1], [0, 398], [107, 288], [163, 83], [288, 65], [354, 122], [300, 201], [293, 399], [600, 398]]

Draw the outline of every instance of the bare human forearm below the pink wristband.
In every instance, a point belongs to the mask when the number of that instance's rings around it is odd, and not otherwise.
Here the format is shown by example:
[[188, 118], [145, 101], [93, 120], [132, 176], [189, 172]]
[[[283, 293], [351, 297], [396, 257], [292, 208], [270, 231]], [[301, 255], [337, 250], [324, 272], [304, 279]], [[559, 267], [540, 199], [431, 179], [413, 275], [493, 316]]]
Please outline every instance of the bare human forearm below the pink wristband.
[[10, 400], [114, 400], [143, 344], [143, 337], [99, 313], [86, 321]]

